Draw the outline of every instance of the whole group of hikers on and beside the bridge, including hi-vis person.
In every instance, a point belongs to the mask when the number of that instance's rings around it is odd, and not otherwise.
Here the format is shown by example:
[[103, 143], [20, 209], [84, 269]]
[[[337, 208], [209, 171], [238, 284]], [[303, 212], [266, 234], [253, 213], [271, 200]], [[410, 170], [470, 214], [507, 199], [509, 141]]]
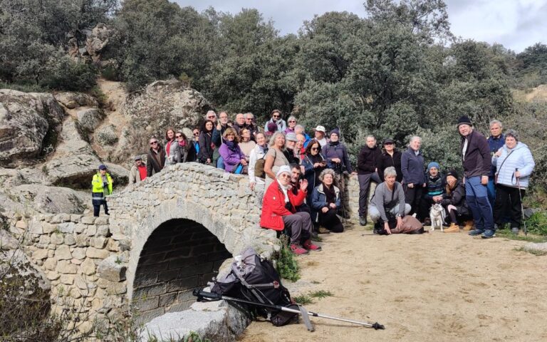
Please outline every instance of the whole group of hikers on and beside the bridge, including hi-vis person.
[[[511, 230], [518, 233], [521, 199], [534, 167], [530, 150], [514, 130], [504, 135], [498, 120], [490, 123], [488, 139], [473, 130], [467, 116], [459, 119], [457, 129], [463, 177], [456, 170], [443, 173], [434, 161], [424, 169], [422, 140], [417, 136], [410, 138], [406, 150], [399, 151], [394, 140], [384, 140], [382, 149], [369, 135], [354, 169], [337, 128], [327, 135], [325, 127], [318, 125], [311, 138], [295, 117], [285, 121], [279, 110], [271, 112], [264, 129], [256, 125], [252, 113], [239, 113], [231, 122], [226, 112], [217, 117], [209, 110], [199, 128], [192, 131], [192, 138], [172, 128], [167, 129], [164, 144], [150, 138], [147, 161], [135, 157], [130, 183], [179, 162], [195, 161], [246, 175], [251, 190], [263, 196], [261, 227], [287, 234], [296, 254], [321, 249], [311, 242], [314, 234], [343, 232], [349, 175], [358, 177], [359, 222], [367, 224], [370, 216], [377, 234], [405, 232], [399, 229], [405, 216], [429, 224], [429, 208], [435, 203], [442, 204], [449, 219], [444, 232], [464, 229], [489, 238], [509, 222]], [[100, 169], [93, 178], [95, 216], [95, 204], [105, 204], [104, 195], [97, 194], [112, 192], [110, 176], [103, 172]], [[368, 203], [372, 182], [377, 187]]]

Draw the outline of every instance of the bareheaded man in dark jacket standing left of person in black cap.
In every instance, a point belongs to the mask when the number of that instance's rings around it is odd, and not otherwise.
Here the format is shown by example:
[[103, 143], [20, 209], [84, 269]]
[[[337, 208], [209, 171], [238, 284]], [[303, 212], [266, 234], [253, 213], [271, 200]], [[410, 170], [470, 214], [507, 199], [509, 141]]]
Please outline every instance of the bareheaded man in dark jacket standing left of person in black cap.
[[370, 181], [380, 183], [378, 177], [377, 160], [382, 152], [376, 146], [373, 135], [367, 137], [367, 144], [361, 148], [357, 157], [357, 177], [359, 180], [359, 224], [367, 224], [368, 192]]

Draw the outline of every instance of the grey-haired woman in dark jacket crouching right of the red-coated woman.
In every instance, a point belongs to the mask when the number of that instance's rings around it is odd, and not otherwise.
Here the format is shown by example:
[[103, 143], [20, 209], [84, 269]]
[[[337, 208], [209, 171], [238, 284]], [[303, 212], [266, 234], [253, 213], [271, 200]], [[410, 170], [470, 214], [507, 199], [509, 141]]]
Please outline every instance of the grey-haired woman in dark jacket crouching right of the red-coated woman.
[[313, 189], [311, 195], [311, 206], [313, 207], [313, 221], [318, 221], [330, 232], [341, 233], [344, 226], [336, 213], [342, 202], [340, 202], [340, 189], [334, 186], [335, 173], [331, 169], [325, 169], [319, 175], [321, 184]]

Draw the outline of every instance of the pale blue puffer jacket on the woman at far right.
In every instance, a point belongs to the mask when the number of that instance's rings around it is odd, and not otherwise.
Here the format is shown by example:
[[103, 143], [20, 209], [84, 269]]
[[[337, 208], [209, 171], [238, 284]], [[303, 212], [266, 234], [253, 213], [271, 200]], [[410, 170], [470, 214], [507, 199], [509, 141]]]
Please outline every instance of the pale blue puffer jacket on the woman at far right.
[[[520, 186], [528, 187], [533, 167], [536, 166], [528, 146], [523, 142], [517, 142], [513, 152], [506, 145], [501, 148], [501, 155], [492, 157], [492, 165], [496, 165], [498, 173], [497, 184], [517, 187], [514, 174], [516, 169], [519, 169], [521, 172]], [[511, 155], [509, 155], [510, 152]]]

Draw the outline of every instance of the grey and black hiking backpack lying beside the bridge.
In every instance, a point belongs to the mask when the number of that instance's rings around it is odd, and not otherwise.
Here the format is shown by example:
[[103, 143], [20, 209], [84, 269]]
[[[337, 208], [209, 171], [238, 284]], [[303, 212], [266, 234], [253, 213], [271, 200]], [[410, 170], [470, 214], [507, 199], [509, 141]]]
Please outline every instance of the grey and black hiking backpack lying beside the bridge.
[[[222, 281], [214, 280], [211, 292], [254, 301], [257, 304], [286, 306], [299, 310], [291, 300], [291, 294], [281, 284], [281, 277], [271, 261], [256, 255], [252, 248], [246, 249], [241, 254], [241, 259], [236, 257], [236, 261], [231, 265], [231, 272]], [[298, 321], [298, 314], [291, 312], [250, 305], [244, 309], [252, 316], [264, 316], [274, 326], [284, 326], [291, 321]]]

